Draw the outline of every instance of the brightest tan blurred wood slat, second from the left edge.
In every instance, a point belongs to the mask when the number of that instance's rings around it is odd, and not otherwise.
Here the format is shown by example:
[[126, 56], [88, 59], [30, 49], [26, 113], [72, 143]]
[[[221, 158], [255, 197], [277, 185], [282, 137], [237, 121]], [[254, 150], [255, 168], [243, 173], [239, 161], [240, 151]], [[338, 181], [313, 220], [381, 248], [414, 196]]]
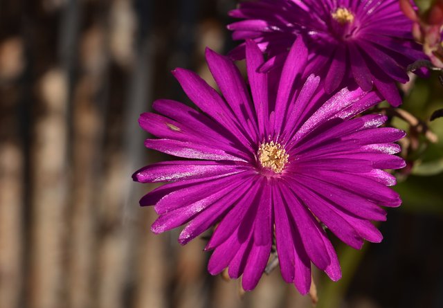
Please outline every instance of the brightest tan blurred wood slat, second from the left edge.
[[[31, 157], [30, 308], [66, 305], [66, 209], [70, 181], [67, 150], [80, 25], [78, 8], [75, 0], [60, 7], [59, 37], [51, 37], [57, 42], [58, 58], [52, 64], [51, 60], [46, 63], [46, 72], [37, 80]], [[40, 13], [49, 14], [44, 9]], [[37, 52], [44, 55], [44, 51]], [[36, 60], [39, 62], [39, 57]]]

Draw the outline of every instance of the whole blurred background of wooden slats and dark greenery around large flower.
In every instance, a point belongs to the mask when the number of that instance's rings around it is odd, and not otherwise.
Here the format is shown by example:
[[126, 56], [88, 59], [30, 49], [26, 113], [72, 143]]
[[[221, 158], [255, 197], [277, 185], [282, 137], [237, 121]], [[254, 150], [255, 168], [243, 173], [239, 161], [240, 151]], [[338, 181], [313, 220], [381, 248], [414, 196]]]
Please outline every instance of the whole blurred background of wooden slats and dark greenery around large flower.
[[[138, 115], [157, 98], [188, 102], [177, 66], [213, 84], [204, 48], [235, 46], [236, 2], [0, 0], [1, 308], [312, 306], [278, 269], [246, 294], [208, 275], [205, 240], [153, 235], [138, 199], [154, 186], [131, 179], [164, 159], [143, 147]], [[424, 122], [393, 117], [410, 132], [404, 205], [379, 225], [381, 244], [332, 237], [343, 279], [314, 273], [317, 307], [443, 307], [443, 119], [428, 122], [443, 87], [434, 74], [406, 93], [404, 111]]]

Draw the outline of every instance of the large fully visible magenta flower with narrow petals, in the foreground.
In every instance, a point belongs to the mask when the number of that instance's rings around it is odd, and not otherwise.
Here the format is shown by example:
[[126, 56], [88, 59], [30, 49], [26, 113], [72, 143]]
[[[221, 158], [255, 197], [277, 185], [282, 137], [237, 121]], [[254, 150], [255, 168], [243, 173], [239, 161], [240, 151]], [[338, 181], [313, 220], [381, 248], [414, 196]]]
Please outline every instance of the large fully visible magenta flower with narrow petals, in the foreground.
[[[399, 129], [379, 127], [385, 116], [362, 111], [381, 99], [374, 92], [342, 89], [325, 94], [320, 78], [302, 79], [307, 48], [298, 39], [289, 51], [277, 91], [273, 75], [257, 69], [260, 49], [246, 42], [251, 91], [227, 57], [206, 51], [206, 60], [222, 96], [186, 69], [173, 71], [197, 111], [173, 100], [156, 100], [158, 113], [139, 123], [157, 138], [145, 146], [190, 158], [154, 163], [134, 173], [141, 183], [169, 182], [146, 194], [159, 218], [154, 233], [186, 225], [179, 235], [188, 243], [215, 226], [206, 250], [213, 250], [208, 271], [226, 267], [242, 275], [252, 290], [275, 241], [282, 278], [300, 293], [311, 284], [311, 262], [332, 280], [341, 278], [337, 256], [323, 223], [346, 244], [380, 242], [370, 221], [383, 221], [379, 206], [399, 206], [389, 185], [395, 178], [382, 169], [404, 166], [394, 142]], [[276, 93], [275, 93], [276, 92]], [[250, 95], [252, 94], [252, 96]]]

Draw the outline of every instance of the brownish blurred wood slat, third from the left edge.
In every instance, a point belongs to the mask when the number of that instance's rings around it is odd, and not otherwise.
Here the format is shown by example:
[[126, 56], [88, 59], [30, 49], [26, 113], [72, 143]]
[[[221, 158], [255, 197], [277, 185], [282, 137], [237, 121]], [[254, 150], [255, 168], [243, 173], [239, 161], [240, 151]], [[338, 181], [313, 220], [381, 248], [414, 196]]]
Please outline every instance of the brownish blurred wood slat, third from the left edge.
[[96, 253], [97, 165], [102, 159], [104, 121], [94, 101], [105, 69], [104, 30], [93, 25], [82, 34], [80, 62], [84, 71], [73, 100], [73, 197], [70, 204], [69, 307], [92, 307], [93, 261]]

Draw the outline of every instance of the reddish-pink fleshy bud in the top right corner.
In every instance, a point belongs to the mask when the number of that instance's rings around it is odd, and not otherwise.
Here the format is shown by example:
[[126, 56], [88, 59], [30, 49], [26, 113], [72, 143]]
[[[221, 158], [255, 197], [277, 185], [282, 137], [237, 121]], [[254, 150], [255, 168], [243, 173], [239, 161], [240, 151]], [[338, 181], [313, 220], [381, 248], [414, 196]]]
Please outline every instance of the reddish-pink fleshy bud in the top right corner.
[[434, 0], [424, 12], [417, 12], [410, 0], [400, 0], [401, 10], [414, 21], [413, 35], [423, 44], [431, 62], [443, 69], [443, 0]]

